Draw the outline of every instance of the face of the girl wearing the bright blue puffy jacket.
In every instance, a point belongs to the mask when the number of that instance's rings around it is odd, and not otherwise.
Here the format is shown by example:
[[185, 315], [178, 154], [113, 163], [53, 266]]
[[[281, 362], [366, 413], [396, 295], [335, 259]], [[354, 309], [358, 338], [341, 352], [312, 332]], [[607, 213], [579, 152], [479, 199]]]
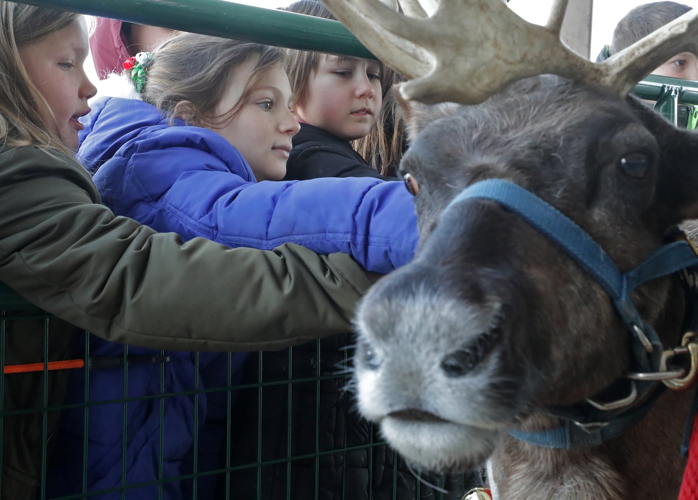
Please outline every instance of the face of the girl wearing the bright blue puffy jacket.
[[[237, 66], [228, 76], [228, 90], [216, 113], [228, 112], [242, 96], [257, 59]], [[290, 111], [288, 75], [281, 66], [270, 68], [253, 87], [235, 118], [224, 128], [210, 128], [222, 135], [244, 156], [258, 181], [280, 180], [286, 175], [291, 138], [300, 125]]]

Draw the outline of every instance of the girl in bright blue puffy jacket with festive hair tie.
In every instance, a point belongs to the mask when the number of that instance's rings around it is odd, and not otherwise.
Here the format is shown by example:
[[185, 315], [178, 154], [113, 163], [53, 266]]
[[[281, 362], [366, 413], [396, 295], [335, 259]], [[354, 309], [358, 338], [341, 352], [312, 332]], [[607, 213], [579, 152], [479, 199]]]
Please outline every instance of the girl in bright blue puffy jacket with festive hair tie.
[[[318, 253], [343, 251], [380, 273], [412, 258], [416, 215], [401, 183], [279, 181], [299, 130], [280, 49], [179, 34], [127, 65], [126, 97], [91, 103], [77, 155], [114, 213], [184, 240], [203, 236], [259, 249], [293, 242]], [[93, 337], [89, 353], [124, 359], [124, 346]], [[128, 383], [123, 367], [94, 370], [89, 398], [139, 399], [126, 410], [121, 402], [91, 406], [87, 445], [84, 410], [66, 411], [61, 447], [87, 447], [90, 491], [162, 478], [160, 485], [126, 490], [126, 497], [154, 498], [161, 488], [165, 500], [178, 500], [191, 498], [195, 488], [198, 497], [210, 498], [215, 474], [194, 482], [168, 479], [223, 466], [219, 450], [230, 437], [225, 422], [235, 397], [226, 388], [235, 385], [244, 353], [129, 346], [127, 354]], [[73, 380], [76, 401], [84, 392], [81, 376]], [[160, 395], [177, 392], [158, 404]], [[82, 465], [57, 464], [48, 478], [51, 494], [79, 491]], [[121, 498], [121, 492], [112, 495]]]

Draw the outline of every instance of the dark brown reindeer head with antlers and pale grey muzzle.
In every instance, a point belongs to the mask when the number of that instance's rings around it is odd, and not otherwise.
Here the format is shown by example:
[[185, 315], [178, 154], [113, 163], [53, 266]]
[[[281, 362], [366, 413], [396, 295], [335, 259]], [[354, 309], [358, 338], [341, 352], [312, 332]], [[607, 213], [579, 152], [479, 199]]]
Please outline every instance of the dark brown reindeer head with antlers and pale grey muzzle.
[[[470, 469], [532, 415], [628, 372], [630, 334], [600, 284], [539, 230], [492, 201], [448, 205], [479, 180], [506, 179], [574, 220], [621, 271], [644, 260], [698, 217], [698, 138], [625, 94], [696, 51], [686, 34], [698, 13], [592, 64], [559, 41], [564, 1], [546, 27], [500, 0], [403, 6], [413, 16], [377, 1], [325, 3], [413, 78], [404, 99], [466, 104], [408, 106], [401, 173], [416, 181], [420, 248], [364, 298], [355, 364], [359, 409], [396, 450], [430, 469]], [[671, 293], [670, 279], [656, 279], [634, 303], [676, 344]]]

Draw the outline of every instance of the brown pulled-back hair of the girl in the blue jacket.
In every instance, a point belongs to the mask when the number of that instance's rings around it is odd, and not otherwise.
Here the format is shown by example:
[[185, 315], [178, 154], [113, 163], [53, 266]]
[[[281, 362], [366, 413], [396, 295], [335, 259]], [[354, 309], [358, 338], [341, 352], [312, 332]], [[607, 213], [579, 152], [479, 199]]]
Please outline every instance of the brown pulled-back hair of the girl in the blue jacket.
[[[153, 51], [143, 89], [144, 101], [163, 115], [193, 125], [223, 127], [235, 118], [257, 82], [274, 67], [285, 66], [283, 50], [228, 38], [181, 33]], [[257, 57], [242, 96], [232, 109], [214, 115], [230, 70]]]

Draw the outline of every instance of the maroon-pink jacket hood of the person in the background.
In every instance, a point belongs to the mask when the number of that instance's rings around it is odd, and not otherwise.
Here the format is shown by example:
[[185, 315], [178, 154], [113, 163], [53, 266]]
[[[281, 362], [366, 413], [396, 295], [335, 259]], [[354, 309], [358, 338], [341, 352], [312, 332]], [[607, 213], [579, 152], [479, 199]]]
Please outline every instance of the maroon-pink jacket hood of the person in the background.
[[126, 36], [122, 31], [123, 22], [106, 17], [97, 17], [97, 26], [89, 37], [89, 50], [94, 68], [100, 80], [109, 73], [121, 73], [124, 61], [131, 57], [126, 48]]

